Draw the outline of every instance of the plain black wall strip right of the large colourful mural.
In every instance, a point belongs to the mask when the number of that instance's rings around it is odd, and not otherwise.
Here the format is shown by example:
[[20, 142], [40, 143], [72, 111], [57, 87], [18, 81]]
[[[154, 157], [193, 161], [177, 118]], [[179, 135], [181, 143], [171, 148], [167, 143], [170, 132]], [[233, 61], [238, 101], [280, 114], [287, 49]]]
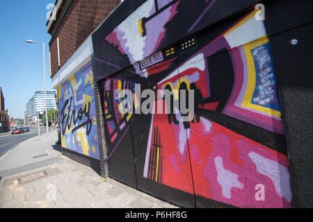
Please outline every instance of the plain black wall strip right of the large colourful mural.
[[[294, 207], [313, 207], [313, 3], [277, 1], [266, 28], [277, 71]], [[277, 28], [275, 28], [277, 27]]]

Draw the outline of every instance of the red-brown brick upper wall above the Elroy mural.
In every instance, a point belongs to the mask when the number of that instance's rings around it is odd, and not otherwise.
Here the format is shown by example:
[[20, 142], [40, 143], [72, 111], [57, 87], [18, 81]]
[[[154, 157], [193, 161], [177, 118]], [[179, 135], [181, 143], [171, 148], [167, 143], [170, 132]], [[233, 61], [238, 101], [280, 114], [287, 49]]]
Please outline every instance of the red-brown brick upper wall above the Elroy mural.
[[[60, 26], [49, 42], [51, 78], [119, 3], [120, 0], [73, 0], [70, 3]], [[59, 38], [60, 67], [57, 38]]]

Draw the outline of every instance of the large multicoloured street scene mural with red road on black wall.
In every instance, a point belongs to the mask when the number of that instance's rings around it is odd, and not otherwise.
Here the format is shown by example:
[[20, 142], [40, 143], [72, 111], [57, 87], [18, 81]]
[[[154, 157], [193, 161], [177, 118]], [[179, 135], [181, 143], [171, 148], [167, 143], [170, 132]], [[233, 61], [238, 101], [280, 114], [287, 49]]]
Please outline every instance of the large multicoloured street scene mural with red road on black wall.
[[[187, 207], [291, 207], [266, 26], [252, 4], [220, 27], [200, 30], [223, 3], [196, 2], [186, 26], [190, 1], [148, 0], [106, 35], [102, 28], [94, 34], [109, 176]], [[120, 112], [129, 99], [120, 98], [122, 89], [134, 93], [135, 106], [145, 102], [136, 85], [154, 90], [154, 110], [166, 108], [157, 89], [192, 89], [195, 117]], [[265, 200], [256, 198], [257, 185]]]

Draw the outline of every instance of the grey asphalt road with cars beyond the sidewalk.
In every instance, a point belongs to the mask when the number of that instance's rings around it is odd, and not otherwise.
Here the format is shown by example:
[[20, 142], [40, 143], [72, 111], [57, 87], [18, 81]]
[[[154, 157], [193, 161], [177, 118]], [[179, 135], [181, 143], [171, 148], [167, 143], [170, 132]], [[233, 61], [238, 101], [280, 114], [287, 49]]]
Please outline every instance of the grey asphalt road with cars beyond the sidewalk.
[[[18, 144], [38, 135], [38, 127], [30, 127], [30, 132], [12, 135], [11, 133], [0, 134], [0, 158]], [[50, 130], [50, 128], [49, 128]], [[46, 133], [45, 127], [40, 127], [40, 135]]]

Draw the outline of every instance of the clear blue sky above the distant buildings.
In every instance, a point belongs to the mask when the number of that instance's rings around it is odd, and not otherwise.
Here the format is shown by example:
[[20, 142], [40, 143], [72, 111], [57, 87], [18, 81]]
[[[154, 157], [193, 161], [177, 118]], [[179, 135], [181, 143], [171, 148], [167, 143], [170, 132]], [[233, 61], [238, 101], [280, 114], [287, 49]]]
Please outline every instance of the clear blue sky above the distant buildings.
[[45, 42], [46, 87], [51, 89], [47, 5], [54, 0], [1, 1], [0, 6], [0, 86], [10, 117], [23, 118], [26, 103], [44, 88], [42, 45]]

